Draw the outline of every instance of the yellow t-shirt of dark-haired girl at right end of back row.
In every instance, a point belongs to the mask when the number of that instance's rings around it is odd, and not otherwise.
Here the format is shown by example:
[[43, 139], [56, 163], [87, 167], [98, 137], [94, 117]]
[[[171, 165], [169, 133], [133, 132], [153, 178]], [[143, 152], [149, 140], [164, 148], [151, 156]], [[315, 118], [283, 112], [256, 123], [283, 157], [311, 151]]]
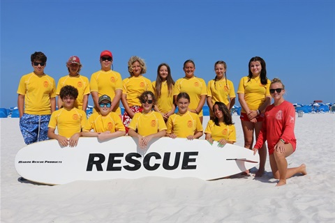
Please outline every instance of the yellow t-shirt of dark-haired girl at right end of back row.
[[[260, 83], [259, 76], [252, 77], [250, 81], [248, 81], [248, 77], [242, 77], [239, 81], [237, 93], [244, 93], [244, 100], [246, 100], [248, 108], [257, 110], [265, 102], [266, 97], [271, 97], [269, 92], [270, 84], [269, 79], [267, 79], [267, 84], [265, 85]], [[242, 108], [241, 112], [246, 111]]]

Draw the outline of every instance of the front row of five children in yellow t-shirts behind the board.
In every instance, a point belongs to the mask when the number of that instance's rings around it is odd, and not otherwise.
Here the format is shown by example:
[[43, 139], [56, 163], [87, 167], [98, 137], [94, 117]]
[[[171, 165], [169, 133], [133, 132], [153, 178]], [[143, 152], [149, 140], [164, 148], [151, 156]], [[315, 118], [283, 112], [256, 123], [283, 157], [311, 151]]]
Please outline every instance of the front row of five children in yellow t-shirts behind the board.
[[[74, 107], [77, 95], [77, 89], [73, 86], [67, 85], [61, 89], [59, 97], [63, 107], [52, 113], [47, 133], [50, 139], [57, 139], [61, 146], [73, 147], [77, 146], [81, 136], [98, 137], [103, 141], [126, 134], [121, 117], [110, 110], [112, 100], [108, 95], [101, 95], [98, 99], [100, 112], [91, 114], [88, 120], [84, 111]], [[204, 130], [199, 116], [188, 111], [188, 93], [182, 92], [177, 95], [178, 112], [172, 114], [166, 124], [163, 116], [153, 110], [156, 105], [154, 93], [144, 91], [139, 100], [143, 110], [133, 116], [128, 126], [128, 135], [138, 138], [140, 148], [147, 148], [149, 141], [154, 137], [181, 137], [192, 140], [202, 136]], [[220, 145], [233, 144], [236, 141], [236, 132], [228, 108], [222, 102], [216, 102], [213, 111], [214, 121], [209, 121], [204, 131], [206, 139], [210, 143], [218, 141]], [[59, 134], [55, 134], [56, 127]]]

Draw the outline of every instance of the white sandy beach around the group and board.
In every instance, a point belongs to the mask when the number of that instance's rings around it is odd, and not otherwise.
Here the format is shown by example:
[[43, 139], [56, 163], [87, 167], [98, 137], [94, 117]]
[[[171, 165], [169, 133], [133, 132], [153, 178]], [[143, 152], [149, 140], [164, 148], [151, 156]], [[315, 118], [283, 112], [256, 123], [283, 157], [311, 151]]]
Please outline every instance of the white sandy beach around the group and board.
[[[233, 120], [243, 146], [239, 116]], [[288, 164], [305, 163], [308, 174], [282, 187], [275, 187], [269, 159], [261, 178], [22, 183], [14, 167], [25, 146], [18, 121], [0, 119], [1, 222], [335, 222], [335, 114], [297, 118], [297, 151]]]

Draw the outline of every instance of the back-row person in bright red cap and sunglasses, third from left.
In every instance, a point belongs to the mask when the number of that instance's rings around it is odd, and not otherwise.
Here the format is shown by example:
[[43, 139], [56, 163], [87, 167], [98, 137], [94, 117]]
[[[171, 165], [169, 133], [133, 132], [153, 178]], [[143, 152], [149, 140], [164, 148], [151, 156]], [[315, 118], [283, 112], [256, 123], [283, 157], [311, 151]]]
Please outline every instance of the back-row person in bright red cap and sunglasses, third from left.
[[122, 95], [122, 78], [119, 72], [112, 70], [112, 52], [104, 50], [100, 54], [101, 70], [91, 75], [89, 87], [94, 101], [94, 111], [99, 112], [99, 97], [109, 95], [112, 98], [110, 110], [121, 117], [120, 99]]

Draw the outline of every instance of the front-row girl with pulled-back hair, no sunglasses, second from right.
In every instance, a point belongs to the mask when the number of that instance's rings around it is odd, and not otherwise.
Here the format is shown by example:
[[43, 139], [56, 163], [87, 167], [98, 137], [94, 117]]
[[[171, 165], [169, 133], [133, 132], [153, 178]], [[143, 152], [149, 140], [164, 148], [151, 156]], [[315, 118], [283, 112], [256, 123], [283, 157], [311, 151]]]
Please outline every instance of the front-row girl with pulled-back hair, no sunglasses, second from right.
[[203, 128], [200, 118], [197, 114], [188, 110], [188, 105], [190, 105], [188, 93], [179, 93], [177, 95], [178, 112], [168, 118], [167, 137], [193, 140], [202, 136]]

